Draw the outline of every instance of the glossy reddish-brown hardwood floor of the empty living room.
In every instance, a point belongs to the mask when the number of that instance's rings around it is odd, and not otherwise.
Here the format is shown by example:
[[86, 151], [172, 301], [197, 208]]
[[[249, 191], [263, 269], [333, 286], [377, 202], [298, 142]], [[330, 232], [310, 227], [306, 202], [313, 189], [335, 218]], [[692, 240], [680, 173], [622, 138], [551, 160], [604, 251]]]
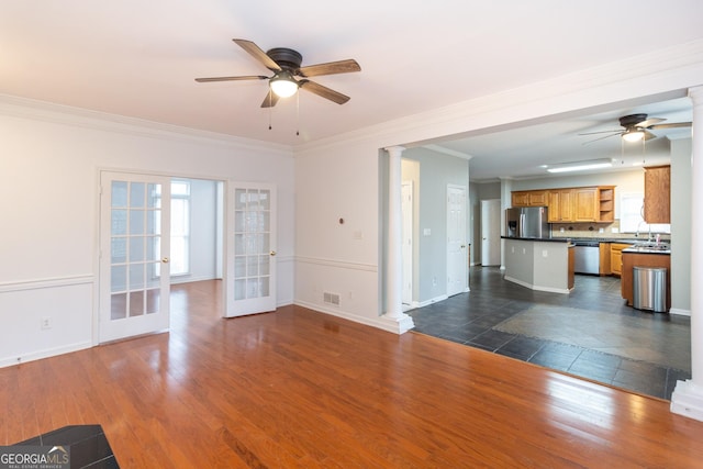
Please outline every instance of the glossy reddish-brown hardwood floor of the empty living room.
[[171, 331], [0, 369], [0, 444], [100, 424], [123, 468], [700, 468], [669, 403], [298, 306], [219, 317], [175, 286]]

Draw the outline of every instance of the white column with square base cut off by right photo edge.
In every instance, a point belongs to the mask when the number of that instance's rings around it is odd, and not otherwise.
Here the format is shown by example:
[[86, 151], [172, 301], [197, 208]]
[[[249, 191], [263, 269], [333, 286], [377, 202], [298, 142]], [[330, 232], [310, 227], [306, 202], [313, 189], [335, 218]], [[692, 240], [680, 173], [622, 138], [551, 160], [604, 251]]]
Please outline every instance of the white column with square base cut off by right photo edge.
[[671, 412], [703, 421], [703, 86], [689, 89], [693, 103], [691, 155], [691, 379], [677, 382]]

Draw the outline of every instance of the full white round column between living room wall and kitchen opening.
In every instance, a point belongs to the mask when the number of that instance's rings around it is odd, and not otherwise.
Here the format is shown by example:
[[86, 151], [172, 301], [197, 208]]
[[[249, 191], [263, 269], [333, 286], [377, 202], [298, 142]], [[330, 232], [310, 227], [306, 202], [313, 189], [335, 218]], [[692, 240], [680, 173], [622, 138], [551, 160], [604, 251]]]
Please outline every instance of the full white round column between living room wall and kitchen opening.
[[386, 314], [393, 332], [402, 334], [415, 325], [412, 317], [403, 313], [403, 250], [402, 250], [402, 172], [401, 155], [405, 148], [386, 148], [388, 168], [388, 256], [386, 268]]

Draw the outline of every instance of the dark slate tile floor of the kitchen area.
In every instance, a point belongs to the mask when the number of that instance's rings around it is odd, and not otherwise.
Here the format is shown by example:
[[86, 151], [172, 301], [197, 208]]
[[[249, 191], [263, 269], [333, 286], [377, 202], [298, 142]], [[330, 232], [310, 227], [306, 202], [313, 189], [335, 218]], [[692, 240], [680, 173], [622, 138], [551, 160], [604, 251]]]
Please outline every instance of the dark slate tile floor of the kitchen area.
[[[573, 291], [562, 294], [533, 291], [505, 281], [498, 267], [472, 267], [470, 288], [468, 293], [408, 311], [415, 323], [414, 331], [667, 400], [671, 399], [678, 380], [691, 378], [690, 319], [627, 306], [617, 278], [577, 276]], [[612, 313], [609, 328], [645, 327], [652, 334], [666, 334], [666, 350], [652, 342], [645, 347], [639, 344], [639, 348], [628, 346], [624, 354], [627, 356], [623, 356], [573, 345], [574, 340], [566, 336], [557, 342], [498, 330], [536, 305]], [[627, 331], [617, 332], [627, 335]], [[668, 364], [667, 354], [677, 356], [672, 364], [685, 362], [688, 358], [688, 367]], [[652, 356], [657, 359], [651, 359]]]

